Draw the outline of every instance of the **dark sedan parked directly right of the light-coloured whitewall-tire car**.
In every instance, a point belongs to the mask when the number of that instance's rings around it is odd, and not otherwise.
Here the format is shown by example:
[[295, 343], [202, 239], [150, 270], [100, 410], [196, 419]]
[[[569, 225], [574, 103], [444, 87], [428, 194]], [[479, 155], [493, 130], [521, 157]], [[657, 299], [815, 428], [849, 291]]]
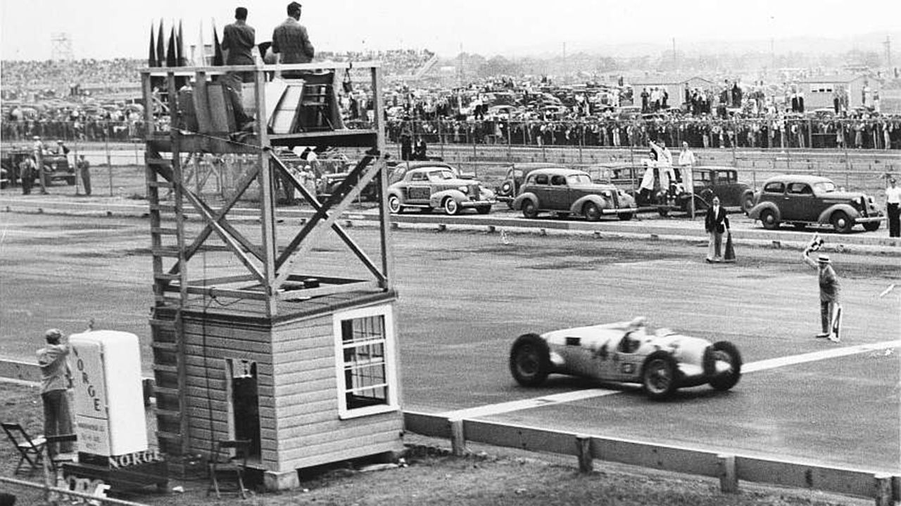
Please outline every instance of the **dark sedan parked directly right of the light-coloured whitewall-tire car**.
[[635, 199], [614, 185], [592, 182], [586, 172], [572, 168], [539, 168], [525, 178], [522, 191], [513, 201], [513, 208], [526, 218], [540, 212], [559, 216], [585, 216], [597, 221], [604, 214], [631, 220], [635, 215]]

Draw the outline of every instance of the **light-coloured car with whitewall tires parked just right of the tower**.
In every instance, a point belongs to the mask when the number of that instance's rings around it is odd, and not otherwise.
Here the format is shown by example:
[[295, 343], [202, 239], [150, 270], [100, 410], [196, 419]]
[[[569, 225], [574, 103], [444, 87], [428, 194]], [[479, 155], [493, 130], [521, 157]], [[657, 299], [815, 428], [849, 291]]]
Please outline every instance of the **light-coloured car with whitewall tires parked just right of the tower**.
[[487, 214], [494, 203], [494, 192], [483, 188], [478, 180], [464, 179], [447, 167], [413, 168], [400, 181], [388, 186], [388, 211], [394, 214], [412, 208], [423, 212], [443, 209], [451, 215], [463, 209], [475, 209], [479, 214]]

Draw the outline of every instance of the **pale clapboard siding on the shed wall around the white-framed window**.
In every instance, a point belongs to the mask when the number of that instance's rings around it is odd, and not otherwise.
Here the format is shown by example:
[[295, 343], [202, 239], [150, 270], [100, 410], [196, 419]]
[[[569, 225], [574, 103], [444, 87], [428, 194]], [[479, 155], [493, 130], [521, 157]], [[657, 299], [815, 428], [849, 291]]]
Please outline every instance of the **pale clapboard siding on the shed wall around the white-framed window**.
[[[359, 305], [377, 307], [392, 304]], [[351, 309], [351, 308], [348, 308]], [[332, 314], [289, 321], [273, 330], [273, 375], [280, 471], [402, 447], [397, 411], [341, 420]], [[396, 339], [396, 336], [395, 336]]]

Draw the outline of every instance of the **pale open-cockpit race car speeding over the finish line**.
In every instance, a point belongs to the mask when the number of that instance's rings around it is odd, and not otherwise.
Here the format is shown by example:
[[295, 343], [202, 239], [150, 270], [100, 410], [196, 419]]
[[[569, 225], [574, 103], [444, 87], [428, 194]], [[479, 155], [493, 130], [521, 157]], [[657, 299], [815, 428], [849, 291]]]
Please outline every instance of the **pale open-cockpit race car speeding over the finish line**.
[[701, 384], [731, 389], [742, 377], [742, 355], [729, 341], [651, 331], [639, 317], [523, 334], [510, 348], [510, 372], [523, 386], [539, 386], [552, 373], [642, 384], [651, 399], [663, 400], [678, 388]]

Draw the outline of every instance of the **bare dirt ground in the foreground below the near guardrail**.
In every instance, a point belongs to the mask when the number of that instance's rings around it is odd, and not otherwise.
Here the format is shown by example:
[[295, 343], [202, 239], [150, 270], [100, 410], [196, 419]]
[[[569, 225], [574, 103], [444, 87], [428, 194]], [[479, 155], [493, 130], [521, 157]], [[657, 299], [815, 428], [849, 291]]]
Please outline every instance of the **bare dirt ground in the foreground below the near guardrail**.
[[[0, 405], [3, 406], [4, 420], [20, 420], [31, 434], [41, 432], [41, 405], [36, 387], [3, 384], [0, 389]], [[724, 494], [719, 492], [719, 482], [713, 479], [601, 462], [596, 462], [594, 472], [579, 474], [575, 461], [558, 456], [542, 456], [496, 447], [470, 447], [469, 456], [456, 457], [451, 456], [446, 447], [439, 446], [441, 442], [418, 437], [410, 439], [400, 465], [343, 462], [301, 474], [301, 488], [294, 491], [262, 492], [258, 486], [251, 484], [250, 497], [244, 501], [234, 493], [223, 494], [221, 500], [217, 500], [214, 495], [207, 496], [207, 481], [203, 475], [187, 481], [170, 480], [168, 492], [165, 493], [150, 488], [120, 493], [114, 497], [152, 506], [839, 506], [871, 502], [821, 492], [744, 483], [739, 493]], [[17, 460], [18, 456], [11, 445], [0, 446], [0, 476], [13, 477]], [[370, 470], [373, 467], [375, 469]], [[34, 483], [42, 481], [40, 473], [15, 477]], [[176, 487], [181, 487], [184, 492], [174, 492]], [[16, 495], [17, 506], [45, 503], [39, 489], [0, 483], [0, 492]]]

